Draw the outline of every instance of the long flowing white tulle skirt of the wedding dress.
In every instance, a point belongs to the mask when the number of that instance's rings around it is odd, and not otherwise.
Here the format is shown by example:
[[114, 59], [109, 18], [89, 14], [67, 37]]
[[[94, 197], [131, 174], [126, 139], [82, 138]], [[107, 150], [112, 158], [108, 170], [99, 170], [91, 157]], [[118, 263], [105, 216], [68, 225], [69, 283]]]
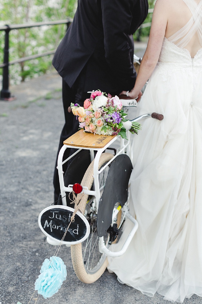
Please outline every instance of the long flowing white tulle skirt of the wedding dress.
[[[108, 257], [121, 283], [172, 302], [202, 296], [202, 73], [159, 64], [138, 108], [158, 112], [134, 135], [130, 213], [139, 228], [124, 255]], [[111, 250], [118, 251], [131, 229]]]

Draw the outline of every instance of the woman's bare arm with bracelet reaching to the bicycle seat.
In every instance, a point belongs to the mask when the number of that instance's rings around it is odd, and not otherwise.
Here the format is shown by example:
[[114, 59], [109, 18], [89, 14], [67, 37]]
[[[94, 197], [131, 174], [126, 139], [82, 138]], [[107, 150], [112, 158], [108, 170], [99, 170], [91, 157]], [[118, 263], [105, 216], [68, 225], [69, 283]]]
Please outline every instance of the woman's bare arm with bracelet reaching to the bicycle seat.
[[[139, 95], [159, 60], [167, 26], [166, 11], [169, 8], [167, 1], [157, 0], [155, 3], [147, 49], [140, 64], [135, 86], [128, 93], [131, 98], [136, 98]], [[126, 95], [126, 91], [121, 94]]]

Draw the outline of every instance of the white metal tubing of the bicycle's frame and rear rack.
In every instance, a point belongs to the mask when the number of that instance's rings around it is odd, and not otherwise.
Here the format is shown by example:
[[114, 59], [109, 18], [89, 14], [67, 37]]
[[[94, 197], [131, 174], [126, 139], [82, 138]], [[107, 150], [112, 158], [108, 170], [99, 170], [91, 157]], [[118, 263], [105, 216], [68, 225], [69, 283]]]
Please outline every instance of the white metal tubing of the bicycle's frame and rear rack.
[[[147, 117], [151, 117], [151, 114], [145, 114], [142, 115], [140, 117], [137, 117], [136, 119], [134, 119], [133, 121], [139, 121], [141, 119], [147, 118]], [[87, 187], [85, 187], [85, 185], [83, 186], [83, 190], [81, 193], [87, 194], [87, 195], [92, 195], [95, 196], [95, 200], [96, 200], [96, 205], [97, 205], [97, 210], [99, 207], [99, 201], [100, 201], [100, 191], [99, 191], [99, 174], [119, 155], [119, 154], [127, 154], [130, 158], [132, 158], [132, 153], [131, 153], [131, 139], [130, 139], [130, 132], [127, 131], [127, 138], [128, 140], [124, 140], [123, 138], [121, 138], [120, 135], [117, 135], [116, 137], [112, 138], [112, 140], [110, 142], [107, 143], [107, 145], [105, 145], [103, 148], [90, 148], [90, 147], [83, 147], [81, 148], [81, 146], [73, 146], [74, 148], [78, 149], [74, 154], [72, 154], [69, 158], [67, 158], [65, 161], [62, 162], [63, 159], [63, 155], [64, 152], [67, 148], [71, 148], [71, 145], [63, 145], [59, 155], [58, 155], [58, 175], [59, 175], [59, 182], [60, 182], [60, 190], [61, 190], [61, 197], [62, 197], [62, 204], [66, 205], [66, 192], [71, 192], [72, 191], [72, 187], [73, 185], [68, 185], [68, 187], [65, 187], [64, 185], [64, 178], [63, 178], [63, 170], [62, 170], [62, 165], [67, 162], [69, 159], [71, 159], [74, 155], [76, 155], [77, 153], [79, 153], [82, 149], [85, 150], [90, 150], [90, 155], [91, 155], [91, 161], [94, 159], [94, 185], [95, 185], [95, 190], [89, 190]], [[118, 151], [118, 153], [116, 155], [114, 155], [114, 157], [107, 162], [107, 164], [105, 166], [103, 166], [100, 170], [98, 170], [98, 166], [99, 166], [99, 158], [101, 156], [101, 154], [111, 145], [113, 144], [113, 142], [115, 142], [117, 139], [120, 139], [120, 150]], [[95, 158], [94, 158], [94, 151], [97, 151]], [[116, 213], [116, 212], [115, 212]], [[114, 213], [114, 216], [115, 216]], [[131, 232], [129, 233], [127, 239], [125, 240], [125, 243], [122, 247], [122, 249], [120, 251], [117, 252], [113, 252], [110, 251], [104, 242], [104, 238], [100, 237], [99, 238], [99, 251], [101, 253], [104, 253], [108, 256], [111, 257], [117, 257], [120, 256], [122, 254], [125, 253], [125, 251], [127, 250], [135, 232], [137, 231], [138, 228], [138, 223], [137, 220], [135, 218], [133, 218], [133, 216], [131, 216], [131, 214], [129, 213], [128, 208], [126, 208], [125, 211], [125, 217], [128, 218], [132, 223], [133, 223], [133, 228], [131, 230]], [[71, 242], [69, 243], [69, 245], [71, 245]], [[67, 245], [68, 246], [68, 245]]]

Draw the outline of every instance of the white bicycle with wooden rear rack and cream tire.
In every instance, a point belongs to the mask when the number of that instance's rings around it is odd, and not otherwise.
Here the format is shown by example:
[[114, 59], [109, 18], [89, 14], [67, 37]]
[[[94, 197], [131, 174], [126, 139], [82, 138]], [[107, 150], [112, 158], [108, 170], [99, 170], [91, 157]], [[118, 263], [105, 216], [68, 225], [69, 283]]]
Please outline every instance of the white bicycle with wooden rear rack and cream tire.
[[[128, 103], [134, 106], [134, 102], [136, 101], [122, 100], [125, 106], [128, 106]], [[163, 119], [163, 115], [152, 113], [137, 117], [133, 121], [149, 117]], [[94, 135], [80, 130], [64, 141], [58, 155], [61, 190], [58, 204], [62, 205], [48, 207], [49, 214], [43, 221], [45, 213], [40, 216], [39, 226], [45, 230], [43, 232], [47, 235], [48, 243], [71, 246], [74, 271], [84, 283], [93, 283], [99, 279], [107, 267], [107, 256], [117, 257], [125, 253], [138, 228], [137, 220], [131, 216], [128, 208], [129, 178], [133, 169], [131, 136], [133, 135], [129, 131], [128, 140], [125, 140], [120, 135]], [[110, 149], [115, 141], [119, 142], [119, 149], [115, 151], [115, 155], [107, 153], [106, 150]], [[65, 150], [72, 147], [77, 149], [76, 152], [63, 160]], [[73, 160], [63, 174], [62, 166], [71, 158]], [[73, 213], [72, 201], [76, 202], [74, 208], [78, 209], [77, 219], [72, 223], [74, 226], [69, 228], [66, 239], [62, 239], [53, 233], [64, 234], [66, 231], [68, 215], [62, 212]], [[117, 241], [125, 218], [133, 223], [133, 228], [122, 249], [118, 252], [110, 251], [110, 244]], [[59, 224], [54, 220], [60, 221]], [[47, 229], [51, 232], [47, 232]]]

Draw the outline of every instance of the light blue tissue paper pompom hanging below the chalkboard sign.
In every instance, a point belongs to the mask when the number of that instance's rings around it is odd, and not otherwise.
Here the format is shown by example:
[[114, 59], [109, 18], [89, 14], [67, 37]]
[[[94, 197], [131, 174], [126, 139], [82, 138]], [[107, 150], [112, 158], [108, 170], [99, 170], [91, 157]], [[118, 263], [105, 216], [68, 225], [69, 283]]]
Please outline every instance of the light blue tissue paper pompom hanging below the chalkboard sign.
[[38, 290], [38, 294], [47, 299], [58, 292], [66, 279], [66, 265], [61, 258], [53, 256], [44, 260], [40, 273], [35, 282], [35, 290]]

